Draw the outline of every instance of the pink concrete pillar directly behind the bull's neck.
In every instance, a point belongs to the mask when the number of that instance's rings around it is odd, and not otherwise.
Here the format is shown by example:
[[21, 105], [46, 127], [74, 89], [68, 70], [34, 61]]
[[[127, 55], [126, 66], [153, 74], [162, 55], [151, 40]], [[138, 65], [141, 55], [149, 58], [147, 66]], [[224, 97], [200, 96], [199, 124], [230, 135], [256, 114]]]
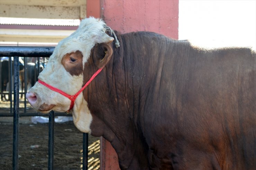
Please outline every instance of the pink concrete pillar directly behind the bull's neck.
[[[152, 31], [178, 39], [179, 0], [100, 0], [100, 16], [121, 33]], [[118, 156], [101, 138], [101, 170], [119, 170]]]

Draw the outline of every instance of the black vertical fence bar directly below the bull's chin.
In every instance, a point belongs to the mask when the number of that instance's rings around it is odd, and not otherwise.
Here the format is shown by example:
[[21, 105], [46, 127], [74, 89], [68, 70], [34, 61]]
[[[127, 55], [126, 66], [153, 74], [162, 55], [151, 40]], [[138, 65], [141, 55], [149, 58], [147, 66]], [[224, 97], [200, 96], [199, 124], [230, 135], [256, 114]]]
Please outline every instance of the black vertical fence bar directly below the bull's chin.
[[49, 113], [48, 170], [53, 170], [54, 112]]

